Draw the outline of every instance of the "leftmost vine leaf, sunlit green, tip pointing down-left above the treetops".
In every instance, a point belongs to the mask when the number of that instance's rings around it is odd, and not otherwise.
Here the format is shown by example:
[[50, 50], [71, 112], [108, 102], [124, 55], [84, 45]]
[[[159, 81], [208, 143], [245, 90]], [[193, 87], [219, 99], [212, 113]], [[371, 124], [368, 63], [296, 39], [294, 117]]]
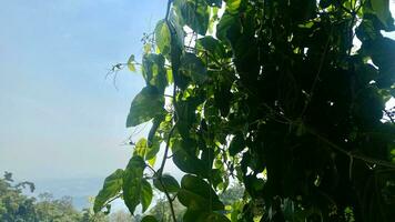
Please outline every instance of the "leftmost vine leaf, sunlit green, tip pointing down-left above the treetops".
[[123, 170], [118, 169], [111, 175], [105, 178], [103, 188], [94, 199], [93, 211], [98, 213], [104, 208], [105, 203], [114, 198], [122, 189]]

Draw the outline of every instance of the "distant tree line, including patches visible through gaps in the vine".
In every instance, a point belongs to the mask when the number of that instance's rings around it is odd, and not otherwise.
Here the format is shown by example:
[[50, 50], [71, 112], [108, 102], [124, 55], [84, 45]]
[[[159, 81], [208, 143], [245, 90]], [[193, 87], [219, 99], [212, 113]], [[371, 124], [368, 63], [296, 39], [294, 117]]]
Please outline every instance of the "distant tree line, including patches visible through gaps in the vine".
[[[82, 211], [75, 209], [71, 196], [55, 199], [51, 193], [41, 193], [37, 198], [29, 196], [26, 191], [34, 192], [32, 182], [16, 182], [12, 173], [6, 172], [0, 179], [0, 221], [1, 222], [141, 222], [143, 215], [132, 216], [129, 212], [119, 210], [109, 215], [94, 214], [91, 208]], [[156, 192], [156, 191], [155, 191]], [[244, 192], [241, 185], [229, 188], [220, 194], [226, 204], [234, 204]], [[171, 212], [165, 196], [155, 193], [155, 204], [146, 214], [154, 215], [161, 222], [171, 222]], [[91, 201], [93, 202], [93, 201]], [[174, 211], [181, 216], [185, 208], [178, 201]]]

